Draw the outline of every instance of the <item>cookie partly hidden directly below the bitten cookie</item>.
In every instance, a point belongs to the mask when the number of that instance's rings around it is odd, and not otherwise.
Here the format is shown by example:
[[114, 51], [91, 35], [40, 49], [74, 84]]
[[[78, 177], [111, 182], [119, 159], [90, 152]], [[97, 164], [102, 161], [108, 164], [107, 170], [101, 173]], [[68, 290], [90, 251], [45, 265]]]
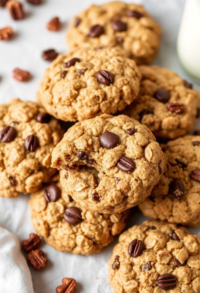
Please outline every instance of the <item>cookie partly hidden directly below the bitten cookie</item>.
[[51, 183], [47, 189], [32, 194], [30, 208], [34, 229], [49, 245], [85, 255], [97, 253], [111, 243], [125, 228], [129, 215], [129, 211], [109, 215], [87, 211], [64, 192], [60, 183]]

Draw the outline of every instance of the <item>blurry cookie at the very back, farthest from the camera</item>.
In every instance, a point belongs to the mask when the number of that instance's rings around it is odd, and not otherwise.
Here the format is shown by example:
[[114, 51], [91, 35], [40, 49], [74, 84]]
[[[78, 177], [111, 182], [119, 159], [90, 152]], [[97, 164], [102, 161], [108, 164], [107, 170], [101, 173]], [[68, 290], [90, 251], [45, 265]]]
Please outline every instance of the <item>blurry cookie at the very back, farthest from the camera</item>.
[[161, 28], [143, 6], [113, 1], [75, 16], [66, 35], [71, 49], [121, 46], [137, 64], [149, 64], [160, 46]]

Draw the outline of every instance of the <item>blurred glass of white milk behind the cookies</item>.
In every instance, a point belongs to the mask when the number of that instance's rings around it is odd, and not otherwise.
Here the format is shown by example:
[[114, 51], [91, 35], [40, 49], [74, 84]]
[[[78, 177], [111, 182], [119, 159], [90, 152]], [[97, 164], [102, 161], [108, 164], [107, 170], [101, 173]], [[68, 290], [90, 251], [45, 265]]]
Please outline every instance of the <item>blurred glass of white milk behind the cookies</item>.
[[186, 0], [177, 53], [185, 71], [200, 83], [200, 0]]

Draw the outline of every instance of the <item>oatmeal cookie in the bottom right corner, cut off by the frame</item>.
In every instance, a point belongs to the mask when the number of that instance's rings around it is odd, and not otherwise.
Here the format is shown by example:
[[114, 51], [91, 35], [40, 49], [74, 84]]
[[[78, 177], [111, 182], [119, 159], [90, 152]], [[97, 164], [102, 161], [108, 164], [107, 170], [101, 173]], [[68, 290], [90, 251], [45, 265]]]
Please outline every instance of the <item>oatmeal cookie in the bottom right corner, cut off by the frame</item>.
[[199, 258], [199, 236], [175, 224], [145, 221], [119, 236], [109, 282], [115, 293], [197, 293]]

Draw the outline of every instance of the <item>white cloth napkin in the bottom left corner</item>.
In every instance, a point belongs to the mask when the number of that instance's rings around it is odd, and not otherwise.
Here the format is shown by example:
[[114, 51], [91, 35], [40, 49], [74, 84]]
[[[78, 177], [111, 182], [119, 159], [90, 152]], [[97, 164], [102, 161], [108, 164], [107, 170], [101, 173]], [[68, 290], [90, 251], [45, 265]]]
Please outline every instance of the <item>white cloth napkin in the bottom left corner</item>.
[[18, 238], [0, 226], [0, 292], [34, 293]]

